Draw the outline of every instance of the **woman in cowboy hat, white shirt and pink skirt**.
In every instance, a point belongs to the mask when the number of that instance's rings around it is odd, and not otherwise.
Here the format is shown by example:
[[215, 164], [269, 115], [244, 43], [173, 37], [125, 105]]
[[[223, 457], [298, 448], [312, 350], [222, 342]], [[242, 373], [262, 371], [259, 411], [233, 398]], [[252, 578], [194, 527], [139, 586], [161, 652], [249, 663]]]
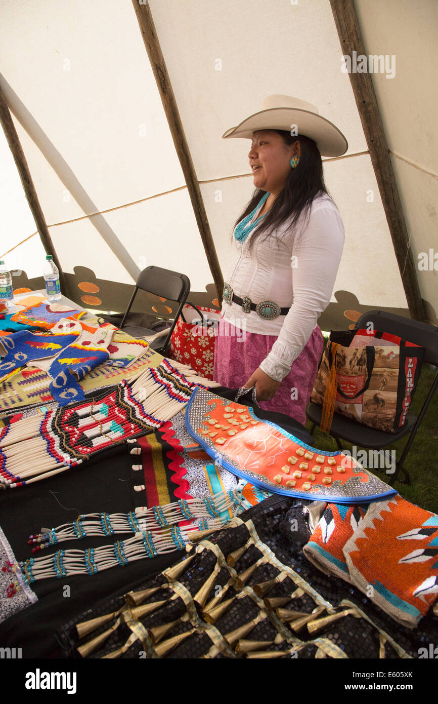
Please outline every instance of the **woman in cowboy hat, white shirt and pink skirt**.
[[347, 140], [315, 106], [282, 95], [266, 98], [230, 137], [251, 140], [256, 190], [234, 230], [214, 379], [231, 389], [255, 386], [262, 408], [304, 425], [323, 351], [317, 320], [344, 246], [321, 154], [341, 156]]

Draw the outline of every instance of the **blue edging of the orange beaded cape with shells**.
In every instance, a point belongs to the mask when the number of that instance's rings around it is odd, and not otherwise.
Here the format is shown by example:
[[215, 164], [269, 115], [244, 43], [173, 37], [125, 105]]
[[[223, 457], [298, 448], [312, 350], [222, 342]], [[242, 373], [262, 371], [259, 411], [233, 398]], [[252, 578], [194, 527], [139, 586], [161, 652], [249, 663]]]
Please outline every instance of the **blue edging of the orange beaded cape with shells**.
[[[266, 489], [266, 491], [270, 491], [273, 494], [281, 494], [282, 496], [293, 496], [294, 498], [309, 498], [313, 499], [314, 501], [328, 501], [330, 503], [349, 503], [349, 504], [354, 504], [354, 503], [371, 503], [372, 501], [382, 501], [383, 498], [386, 496], [394, 496], [394, 494], [397, 494], [396, 489], [390, 489], [389, 491], [385, 491], [382, 494], [372, 494], [371, 496], [332, 496], [330, 494], [314, 494], [311, 491], [297, 491], [295, 489], [281, 489], [279, 486], [271, 486], [271, 484], [266, 484], [265, 482], [261, 482], [259, 479], [255, 479], [252, 477], [250, 474], [247, 474], [246, 472], [243, 472], [242, 470], [236, 470], [236, 467], [233, 467], [231, 463], [229, 463], [224, 457], [222, 457], [219, 454], [219, 451], [216, 451], [216, 453], [213, 455], [212, 454], [212, 448], [210, 445], [207, 444], [205, 439], [202, 436], [199, 436], [195, 430], [193, 430], [193, 427], [191, 426], [191, 422], [189, 420], [189, 415], [190, 415], [190, 410], [191, 406], [195, 401], [196, 394], [198, 392], [198, 389], [194, 389], [193, 394], [191, 395], [190, 401], [188, 401], [188, 404], [186, 406], [186, 414], [185, 414], [185, 421], [186, 421], [186, 428], [188, 430], [188, 433], [193, 437], [194, 440], [197, 440], [202, 446], [202, 448], [205, 449], [206, 453], [210, 455], [213, 459], [217, 459], [218, 456], [221, 458], [221, 463], [222, 466], [226, 468], [231, 474], [236, 474], [237, 477], [241, 477], [242, 479], [246, 479], [247, 482], [250, 482], [250, 484], [254, 484], [255, 486], [259, 486], [260, 489]], [[226, 401], [226, 398], [224, 398], [224, 401]], [[233, 401], [229, 401], [228, 403], [233, 403]], [[245, 404], [242, 404], [243, 406]], [[253, 415], [253, 411], [251, 408], [248, 407], [248, 410], [250, 411], [250, 414]], [[281, 428], [279, 425], [276, 425], [276, 423], [271, 423], [270, 421], [267, 420], [262, 420], [262, 418], [258, 418], [257, 415], [253, 416], [255, 420], [258, 420], [259, 422], [266, 423], [266, 425], [271, 425], [271, 427], [275, 428], [278, 430], [278, 432], [281, 432], [282, 435], [285, 437], [288, 437], [290, 440], [296, 442], [297, 444], [300, 444], [303, 448], [306, 448], [307, 450], [315, 452], [314, 447], [311, 447], [309, 445], [306, 445], [302, 441], [300, 441], [298, 438], [295, 436], [291, 435], [290, 433], [286, 432]], [[321, 451], [322, 452], [322, 451]], [[325, 455], [340, 455], [339, 451], [335, 453], [326, 453], [324, 451]]]

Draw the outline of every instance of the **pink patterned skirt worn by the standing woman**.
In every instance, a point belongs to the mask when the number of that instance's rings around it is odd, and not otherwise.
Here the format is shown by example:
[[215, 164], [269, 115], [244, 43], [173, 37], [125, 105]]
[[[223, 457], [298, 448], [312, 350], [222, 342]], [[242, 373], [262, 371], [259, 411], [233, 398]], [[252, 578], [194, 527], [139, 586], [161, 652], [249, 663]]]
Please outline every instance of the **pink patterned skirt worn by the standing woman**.
[[[236, 334], [230, 334], [236, 331]], [[226, 332], [226, 334], [225, 334]], [[240, 389], [271, 351], [275, 335], [246, 332], [226, 323], [221, 318], [214, 348], [214, 380], [228, 389]], [[260, 408], [285, 413], [305, 425], [306, 407], [314, 388], [318, 364], [323, 352], [323, 335], [317, 325], [307, 340], [302, 353], [292, 363], [271, 401], [262, 401]]]

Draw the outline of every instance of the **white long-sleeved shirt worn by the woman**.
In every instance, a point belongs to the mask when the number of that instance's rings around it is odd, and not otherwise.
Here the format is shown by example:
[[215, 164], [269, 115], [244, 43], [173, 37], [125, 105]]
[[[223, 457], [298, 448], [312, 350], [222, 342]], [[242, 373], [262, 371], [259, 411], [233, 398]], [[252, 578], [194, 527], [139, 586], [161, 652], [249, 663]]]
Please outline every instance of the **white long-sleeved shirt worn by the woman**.
[[[259, 210], [254, 219], [258, 217]], [[314, 199], [309, 218], [301, 216], [295, 227], [290, 220], [272, 235], [258, 240], [249, 252], [253, 230], [236, 241], [236, 257], [226, 278], [236, 296], [253, 303], [273, 301], [289, 308], [287, 315], [263, 320], [255, 310], [244, 313], [237, 303], [222, 303], [221, 314], [231, 325], [263, 335], [276, 335], [271, 352], [260, 364], [271, 379], [281, 381], [302, 352], [317, 320], [330, 303], [344, 247], [344, 225], [335, 203], [326, 194]]]

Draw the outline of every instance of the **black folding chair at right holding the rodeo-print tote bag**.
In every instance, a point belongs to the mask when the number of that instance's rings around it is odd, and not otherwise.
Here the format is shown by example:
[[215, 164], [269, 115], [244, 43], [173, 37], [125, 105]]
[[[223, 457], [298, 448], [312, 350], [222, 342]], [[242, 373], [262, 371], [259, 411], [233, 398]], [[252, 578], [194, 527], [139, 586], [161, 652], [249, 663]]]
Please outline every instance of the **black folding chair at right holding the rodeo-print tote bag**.
[[[423, 362], [430, 363], [435, 367], [438, 367], [438, 327], [435, 325], [428, 325], [425, 322], [402, 318], [401, 315], [385, 313], [383, 310], [368, 310], [367, 313], [363, 313], [363, 315], [361, 315], [361, 318], [359, 318], [356, 322], [354, 329], [364, 329], [370, 323], [373, 325], [375, 330], [398, 335], [408, 342], [413, 342], [417, 345], [425, 347], [426, 352]], [[335, 438], [338, 448], [342, 450], [340, 439], [352, 443], [353, 445], [359, 445], [365, 448], [380, 449], [387, 445], [392, 445], [394, 442], [397, 442], [397, 440], [400, 440], [404, 436], [410, 434], [409, 439], [404, 446], [404, 451], [401, 453], [401, 458], [396, 461], [395, 472], [392, 474], [391, 479], [389, 479], [389, 484], [392, 484], [392, 482], [398, 478], [399, 473], [402, 472], [404, 479], [399, 479], [399, 482], [410, 484], [409, 473], [404, 469], [403, 463], [406, 459], [408, 451], [411, 449], [411, 445], [418, 428], [420, 427], [420, 423], [423, 420], [430, 401], [432, 401], [432, 396], [434, 395], [437, 386], [438, 369], [418, 417], [413, 415], [413, 413], [408, 413], [406, 415], [404, 426], [397, 433], [387, 433], [381, 430], [376, 430], [366, 425], [361, 425], [358, 421], [347, 418], [344, 415], [335, 413], [333, 415], [333, 422], [330, 427], [330, 435]], [[318, 403], [309, 403], [306, 413], [307, 417], [313, 424], [310, 429], [310, 434], [312, 435], [316, 425], [321, 425], [322, 407], [319, 406]]]

